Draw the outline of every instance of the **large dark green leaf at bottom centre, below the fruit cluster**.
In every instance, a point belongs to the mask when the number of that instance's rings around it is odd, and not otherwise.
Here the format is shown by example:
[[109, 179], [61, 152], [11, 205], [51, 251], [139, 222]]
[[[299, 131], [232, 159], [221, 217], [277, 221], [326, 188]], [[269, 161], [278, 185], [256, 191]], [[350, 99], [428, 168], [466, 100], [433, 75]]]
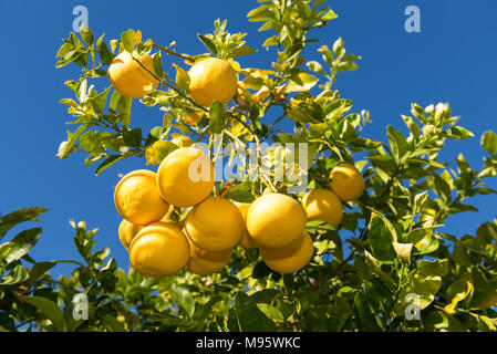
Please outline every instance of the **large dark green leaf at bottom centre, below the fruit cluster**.
[[276, 331], [275, 322], [268, 319], [256, 302], [241, 291], [235, 296], [235, 315], [240, 332]]

